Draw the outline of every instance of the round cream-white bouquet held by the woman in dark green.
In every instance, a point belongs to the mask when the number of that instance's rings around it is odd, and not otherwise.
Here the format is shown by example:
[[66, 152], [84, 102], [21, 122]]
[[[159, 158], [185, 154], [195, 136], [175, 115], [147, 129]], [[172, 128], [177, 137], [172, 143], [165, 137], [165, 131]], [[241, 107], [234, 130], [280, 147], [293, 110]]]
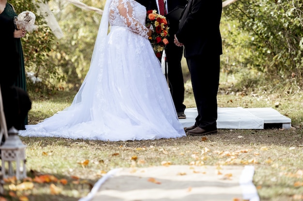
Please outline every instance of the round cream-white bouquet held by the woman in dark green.
[[14, 18], [14, 23], [17, 29], [25, 29], [26, 31], [32, 32], [37, 29], [34, 25], [36, 21], [36, 15], [30, 11], [23, 11]]

